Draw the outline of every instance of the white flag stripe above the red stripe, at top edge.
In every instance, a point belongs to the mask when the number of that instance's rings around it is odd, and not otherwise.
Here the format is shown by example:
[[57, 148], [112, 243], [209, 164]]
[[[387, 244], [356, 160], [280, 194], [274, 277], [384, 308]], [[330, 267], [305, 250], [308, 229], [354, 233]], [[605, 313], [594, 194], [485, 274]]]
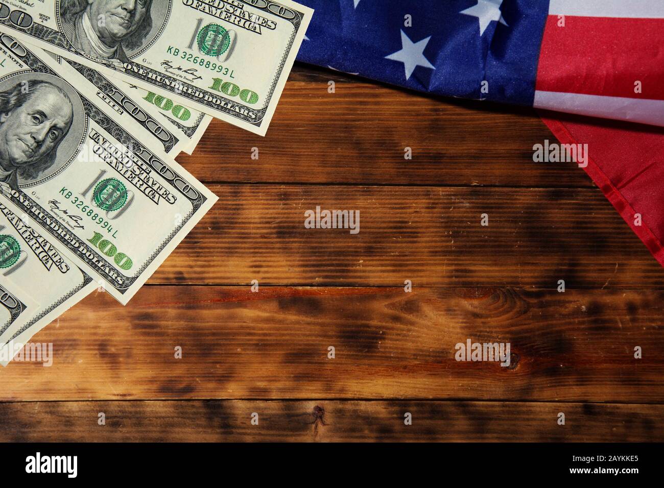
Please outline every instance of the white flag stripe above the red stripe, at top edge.
[[550, 0], [548, 15], [664, 19], [661, 0]]

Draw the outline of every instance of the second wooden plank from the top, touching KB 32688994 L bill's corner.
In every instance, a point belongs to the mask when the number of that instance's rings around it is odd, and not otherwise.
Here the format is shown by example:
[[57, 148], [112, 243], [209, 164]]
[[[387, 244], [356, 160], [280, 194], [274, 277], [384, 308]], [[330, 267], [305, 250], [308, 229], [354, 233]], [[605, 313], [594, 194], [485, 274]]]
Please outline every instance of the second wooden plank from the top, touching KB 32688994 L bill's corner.
[[[210, 189], [220, 200], [152, 284], [664, 286], [661, 266], [595, 189]], [[359, 210], [359, 234], [304, 228], [317, 205]]]

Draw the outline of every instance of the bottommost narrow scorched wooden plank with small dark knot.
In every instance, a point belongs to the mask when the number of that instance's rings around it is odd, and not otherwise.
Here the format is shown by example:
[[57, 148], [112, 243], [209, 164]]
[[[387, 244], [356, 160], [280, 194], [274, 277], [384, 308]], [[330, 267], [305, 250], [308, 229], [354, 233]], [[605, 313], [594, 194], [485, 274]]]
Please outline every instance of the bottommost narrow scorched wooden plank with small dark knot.
[[[104, 412], [106, 425], [98, 425]], [[404, 414], [412, 414], [412, 425]], [[565, 414], [565, 425], [556, 423]], [[251, 424], [253, 413], [258, 425]], [[662, 442], [664, 406], [519, 402], [0, 403], [0, 442]]]

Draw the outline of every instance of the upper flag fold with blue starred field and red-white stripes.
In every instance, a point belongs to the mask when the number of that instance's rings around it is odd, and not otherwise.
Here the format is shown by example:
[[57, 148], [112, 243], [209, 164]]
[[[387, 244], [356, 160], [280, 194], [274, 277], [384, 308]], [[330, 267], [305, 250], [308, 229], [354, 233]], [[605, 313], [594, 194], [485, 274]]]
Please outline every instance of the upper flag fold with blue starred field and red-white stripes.
[[462, 98], [664, 125], [662, 0], [300, 0], [298, 60]]

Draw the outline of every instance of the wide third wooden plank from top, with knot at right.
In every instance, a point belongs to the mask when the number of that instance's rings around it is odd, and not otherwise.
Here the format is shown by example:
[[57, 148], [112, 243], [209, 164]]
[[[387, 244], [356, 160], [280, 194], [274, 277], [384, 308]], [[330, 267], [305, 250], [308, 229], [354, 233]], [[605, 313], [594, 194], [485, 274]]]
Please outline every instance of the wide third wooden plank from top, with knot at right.
[[[606, 289], [147, 286], [122, 307], [98, 293], [35, 338], [53, 343], [51, 367], [0, 372], [0, 400], [661, 403], [663, 299]], [[511, 366], [457, 362], [466, 339], [511, 343]]]

